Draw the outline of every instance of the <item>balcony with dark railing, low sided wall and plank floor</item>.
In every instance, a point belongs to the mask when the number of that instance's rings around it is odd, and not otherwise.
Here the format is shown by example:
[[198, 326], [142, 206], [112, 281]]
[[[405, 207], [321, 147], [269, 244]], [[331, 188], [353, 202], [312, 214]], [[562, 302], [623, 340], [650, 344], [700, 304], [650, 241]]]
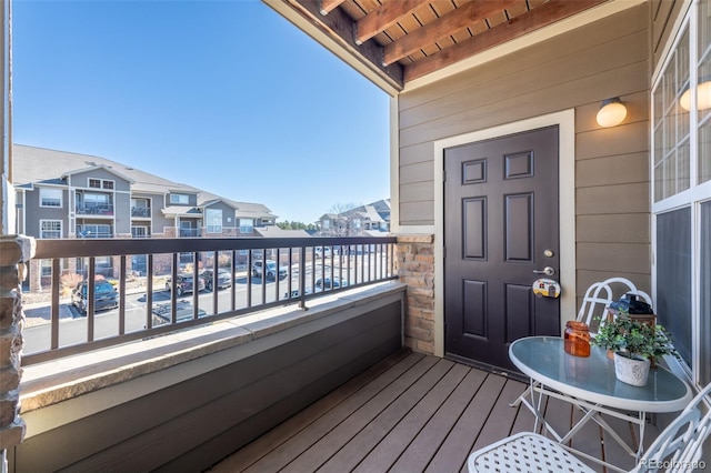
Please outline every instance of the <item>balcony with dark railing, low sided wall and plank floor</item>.
[[[309, 258], [317, 246], [331, 256]], [[394, 238], [38, 241], [30, 266], [50, 260], [52, 289], [48, 303], [24, 304], [27, 434], [8, 451], [9, 471], [460, 471], [473, 447], [530, 429], [531, 414], [508, 405], [524, 383], [403, 348], [394, 246]], [[257, 253], [288, 276], [256, 276]], [[113, 281], [119, 308], [94, 311], [89, 299], [78, 314], [60, 291], [62, 261], [106, 254], [123, 274]], [[147, 255], [138, 280], [128, 275], [136, 254]], [[180, 296], [166, 285], [214, 262], [232, 284]], [[324, 276], [342, 283], [319, 288]], [[551, 403], [561, 422], [574, 417]], [[593, 454], [633, 461], [598, 429], [584, 435]]]

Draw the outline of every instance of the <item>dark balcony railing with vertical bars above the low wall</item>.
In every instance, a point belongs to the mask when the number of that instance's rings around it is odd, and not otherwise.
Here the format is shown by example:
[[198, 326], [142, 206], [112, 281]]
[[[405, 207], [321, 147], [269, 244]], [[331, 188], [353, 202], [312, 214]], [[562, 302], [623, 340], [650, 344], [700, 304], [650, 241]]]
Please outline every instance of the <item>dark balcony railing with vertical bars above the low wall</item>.
[[[395, 279], [394, 243], [392, 236], [38, 240], [34, 259], [51, 261], [51, 289], [46, 308], [26, 310], [28, 320], [41, 315], [33, 311], [46, 310], [41, 318], [47, 323], [24, 329], [22, 362], [39, 363], [271, 306], [298, 303], [306, 309], [313, 298]], [[330, 248], [330, 255], [318, 258], [316, 248]], [[114, 261], [116, 275], [108, 278], [116, 288], [108, 302], [111, 294], [96, 290], [98, 262], [107, 256]], [[141, 276], [132, 271], [133, 256], [146, 261]], [[212, 271], [206, 281], [203, 270], [216, 262], [222, 274]], [[67, 270], [72, 266], [87, 269], [86, 276]], [[226, 272], [228, 279], [221, 280]], [[83, 301], [72, 294], [81, 280], [89, 281]], [[194, 281], [198, 291], [192, 291]]]

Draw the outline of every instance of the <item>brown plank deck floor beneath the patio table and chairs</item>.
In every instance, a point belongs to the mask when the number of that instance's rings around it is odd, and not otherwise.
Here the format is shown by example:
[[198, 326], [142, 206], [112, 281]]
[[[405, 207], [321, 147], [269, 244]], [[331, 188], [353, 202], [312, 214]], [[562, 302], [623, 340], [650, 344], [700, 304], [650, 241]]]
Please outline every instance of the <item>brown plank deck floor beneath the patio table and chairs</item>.
[[[533, 427], [509, 404], [527, 384], [464, 364], [403, 351], [373, 366], [216, 465], [227, 472], [460, 472], [467, 456]], [[552, 400], [547, 419], [569, 425], [571, 406]], [[627, 440], [634, 430], [610, 423]], [[645, 442], [658, 430], [647, 426]], [[600, 427], [573, 446], [631, 469], [633, 459]], [[602, 469], [599, 469], [603, 471]]]

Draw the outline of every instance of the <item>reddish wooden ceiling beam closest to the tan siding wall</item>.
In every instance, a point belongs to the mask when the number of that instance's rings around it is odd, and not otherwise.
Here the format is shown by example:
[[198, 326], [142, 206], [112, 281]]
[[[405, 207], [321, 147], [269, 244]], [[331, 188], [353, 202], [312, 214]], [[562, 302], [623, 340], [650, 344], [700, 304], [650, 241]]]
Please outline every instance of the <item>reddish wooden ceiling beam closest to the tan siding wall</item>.
[[451, 66], [487, 49], [503, 44], [507, 41], [580, 13], [605, 1], [608, 0], [550, 0], [528, 13], [514, 17], [505, 23], [501, 23], [437, 54], [407, 66], [404, 69], [404, 82], [427, 76], [430, 72]]

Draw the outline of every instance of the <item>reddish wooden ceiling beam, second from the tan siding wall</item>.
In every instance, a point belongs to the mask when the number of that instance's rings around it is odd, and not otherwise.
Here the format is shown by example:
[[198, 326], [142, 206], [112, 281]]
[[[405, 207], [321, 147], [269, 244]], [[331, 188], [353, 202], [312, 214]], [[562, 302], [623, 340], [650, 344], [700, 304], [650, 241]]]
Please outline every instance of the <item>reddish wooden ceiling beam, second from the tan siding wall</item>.
[[[463, 30], [487, 17], [500, 12], [518, 0], [487, 0], [464, 3], [442, 18], [409, 32], [383, 48], [383, 66], [392, 64], [408, 54]], [[573, 2], [575, 3], [575, 2]]]

